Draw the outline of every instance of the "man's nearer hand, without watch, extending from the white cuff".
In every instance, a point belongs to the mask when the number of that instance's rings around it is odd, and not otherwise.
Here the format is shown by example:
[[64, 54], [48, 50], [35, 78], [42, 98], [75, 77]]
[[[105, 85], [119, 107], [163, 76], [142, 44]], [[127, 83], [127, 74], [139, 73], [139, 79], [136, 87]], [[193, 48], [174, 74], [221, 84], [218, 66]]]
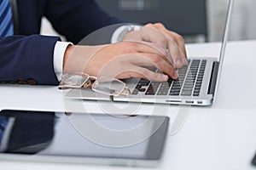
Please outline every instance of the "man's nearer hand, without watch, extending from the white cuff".
[[[165, 74], [148, 70], [158, 68]], [[166, 49], [148, 42], [118, 42], [102, 46], [69, 46], [64, 58], [64, 72], [84, 72], [95, 77], [119, 79], [138, 77], [166, 82], [177, 79]], [[168, 75], [168, 76], [167, 76]]]

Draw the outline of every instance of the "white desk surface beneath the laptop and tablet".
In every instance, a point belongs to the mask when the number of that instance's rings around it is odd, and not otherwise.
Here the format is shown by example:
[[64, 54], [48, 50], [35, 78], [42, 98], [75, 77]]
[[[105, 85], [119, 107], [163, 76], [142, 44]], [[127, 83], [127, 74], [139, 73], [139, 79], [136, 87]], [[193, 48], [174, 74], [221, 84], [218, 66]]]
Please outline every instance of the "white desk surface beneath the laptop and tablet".
[[[219, 44], [188, 45], [189, 56], [218, 55]], [[256, 169], [250, 165], [256, 151], [256, 41], [230, 42], [216, 102], [210, 107], [192, 107], [183, 127], [169, 135], [163, 162], [157, 169], [220, 170]], [[235, 89], [239, 90], [235, 93]], [[67, 102], [56, 87], [0, 86], [1, 109], [37, 109], [63, 111]], [[95, 102], [73, 105], [81, 111], [102, 112]], [[177, 106], [141, 105], [139, 111], [149, 113], [168, 109], [175, 117]], [[165, 114], [165, 113], [164, 113]], [[173, 121], [173, 120], [172, 120]], [[0, 161], [1, 169], [121, 169], [88, 165]], [[124, 167], [123, 169], [130, 169]], [[143, 168], [137, 168], [143, 169]]]

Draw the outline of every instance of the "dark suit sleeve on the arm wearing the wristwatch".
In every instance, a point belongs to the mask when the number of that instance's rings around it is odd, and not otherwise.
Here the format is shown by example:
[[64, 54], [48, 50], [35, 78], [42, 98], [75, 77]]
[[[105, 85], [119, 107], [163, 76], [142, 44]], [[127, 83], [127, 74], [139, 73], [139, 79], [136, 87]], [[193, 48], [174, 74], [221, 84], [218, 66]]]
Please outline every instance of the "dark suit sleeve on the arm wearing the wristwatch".
[[75, 44], [93, 31], [122, 22], [93, 0], [49, 0], [44, 15], [56, 31]]

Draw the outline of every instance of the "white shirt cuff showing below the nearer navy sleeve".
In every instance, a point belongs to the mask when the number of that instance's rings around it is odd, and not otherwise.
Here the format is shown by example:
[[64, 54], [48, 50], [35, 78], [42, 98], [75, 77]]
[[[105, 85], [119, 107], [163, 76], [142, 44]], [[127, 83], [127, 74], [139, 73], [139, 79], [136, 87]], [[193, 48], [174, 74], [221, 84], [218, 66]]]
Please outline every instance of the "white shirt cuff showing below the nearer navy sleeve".
[[63, 72], [63, 57], [66, 52], [67, 46], [73, 45], [72, 42], [56, 42], [54, 50], [54, 69], [55, 75], [59, 81], [61, 81], [61, 76]]

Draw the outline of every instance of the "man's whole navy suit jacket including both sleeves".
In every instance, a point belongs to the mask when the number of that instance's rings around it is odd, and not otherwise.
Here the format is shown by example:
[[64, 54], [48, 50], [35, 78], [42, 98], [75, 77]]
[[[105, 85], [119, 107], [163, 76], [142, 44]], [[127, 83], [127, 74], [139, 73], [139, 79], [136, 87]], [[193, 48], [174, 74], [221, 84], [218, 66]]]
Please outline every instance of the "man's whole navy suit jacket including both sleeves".
[[[57, 85], [53, 65], [59, 37], [35, 35], [47, 17], [68, 41], [79, 42], [92, 31], [119, 23], [104, 13], [93, 0], [17, 0], [19, 33], [0, 38], [0, 82], [29, 82]], [[31, 81], [30, 81], [31, 82]], [[32, 82], [33, 83], [33, 82]]]

